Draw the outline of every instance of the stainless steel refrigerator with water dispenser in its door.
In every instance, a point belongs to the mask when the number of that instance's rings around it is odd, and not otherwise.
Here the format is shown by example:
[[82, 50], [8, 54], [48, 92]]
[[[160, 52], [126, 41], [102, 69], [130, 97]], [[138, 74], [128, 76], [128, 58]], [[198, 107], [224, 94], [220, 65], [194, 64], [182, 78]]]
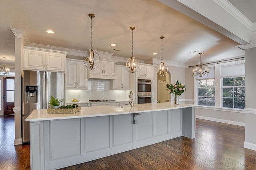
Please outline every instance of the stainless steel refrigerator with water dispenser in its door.
[[[64, 98], [64, 73], [23, 71], [22, 143], [29, 142], [29, 122], [25, 119], [34, 109], [49, 108], [50, 96], [58, 99]], [[61, 105], [63, 105], [63, 102]]]

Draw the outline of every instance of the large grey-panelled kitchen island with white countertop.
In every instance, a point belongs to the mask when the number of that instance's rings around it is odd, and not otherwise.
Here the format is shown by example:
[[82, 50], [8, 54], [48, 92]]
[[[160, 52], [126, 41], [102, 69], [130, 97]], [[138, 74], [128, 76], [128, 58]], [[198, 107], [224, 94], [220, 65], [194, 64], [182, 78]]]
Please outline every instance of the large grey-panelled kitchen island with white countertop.
[[195, 137], [195, 105], [173, 103], [82, 107], [72, 114], [34, 110], [30, 167], [51, 170], [168, 139]]

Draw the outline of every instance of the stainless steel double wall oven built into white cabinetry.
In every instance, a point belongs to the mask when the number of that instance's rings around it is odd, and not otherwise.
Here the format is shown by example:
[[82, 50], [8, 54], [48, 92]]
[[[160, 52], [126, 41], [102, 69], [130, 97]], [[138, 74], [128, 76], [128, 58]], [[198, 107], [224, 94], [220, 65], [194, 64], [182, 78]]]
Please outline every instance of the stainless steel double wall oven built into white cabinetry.
[[138, 104], [151, 103], [151, 80], [138, 79]]

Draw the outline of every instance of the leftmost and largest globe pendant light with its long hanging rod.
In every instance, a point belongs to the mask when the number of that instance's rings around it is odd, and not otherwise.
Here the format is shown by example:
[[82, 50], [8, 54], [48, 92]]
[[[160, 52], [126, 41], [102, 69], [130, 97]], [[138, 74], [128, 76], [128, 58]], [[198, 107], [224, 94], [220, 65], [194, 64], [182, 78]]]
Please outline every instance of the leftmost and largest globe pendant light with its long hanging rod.
[[[92, 69], [97, 68], [100, 65], [100, 55], [97, 53], [97, 51], [94, 51], [92, 49], [92, 18], [95, 18], [95, 15], [88, 14], [88, 16], [91, 18], [91, 49], [89, 49], [88, 51], [86, 51], [84, 53], [84, 64], [86, 67], [88, 67], [92, 70]], [[94, 56], [94, 54], [96, 54], [96, 55]], [[94, 59], [98, 59], [98, 62], [95, 62]], [[86, 61], [88, 61], [89, 66], [87, 66]], [[96, 63], [98, 63], [98, 64], [96, 65]]]

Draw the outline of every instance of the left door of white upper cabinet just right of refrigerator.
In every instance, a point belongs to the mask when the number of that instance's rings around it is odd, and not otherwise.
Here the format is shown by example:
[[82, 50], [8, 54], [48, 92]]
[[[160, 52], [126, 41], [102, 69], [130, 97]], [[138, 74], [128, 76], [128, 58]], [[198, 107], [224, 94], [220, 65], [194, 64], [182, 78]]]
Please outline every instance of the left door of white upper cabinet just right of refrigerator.
[[76, 88], [76, 63], [67, 62], [66, 88]]

